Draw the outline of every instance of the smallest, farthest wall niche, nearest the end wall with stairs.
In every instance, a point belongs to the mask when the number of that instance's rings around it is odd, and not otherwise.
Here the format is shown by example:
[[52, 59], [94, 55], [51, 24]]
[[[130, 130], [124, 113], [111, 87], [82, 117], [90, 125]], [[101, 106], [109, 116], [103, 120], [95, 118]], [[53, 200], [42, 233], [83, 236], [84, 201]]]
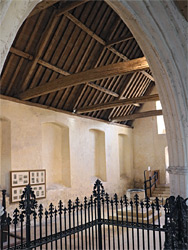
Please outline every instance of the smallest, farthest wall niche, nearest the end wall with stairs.
[[118, 134], [119, 143], [119, 173], [120, 178], [131, 177], [131, 148], [129, 145], [128, 136], [125, 134]]

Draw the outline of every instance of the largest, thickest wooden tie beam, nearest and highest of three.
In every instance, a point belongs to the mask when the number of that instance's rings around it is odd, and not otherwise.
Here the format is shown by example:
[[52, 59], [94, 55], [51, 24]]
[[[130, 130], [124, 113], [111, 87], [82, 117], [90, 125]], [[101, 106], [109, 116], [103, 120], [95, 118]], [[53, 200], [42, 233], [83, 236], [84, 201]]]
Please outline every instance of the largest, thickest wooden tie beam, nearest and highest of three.
[[44, 85], [28, 89], [19, 94], [19, 98], [28, 100], [37, 96], [55, 92], [68, 87], [76, 86], [84, 82], [96, 81], [103, 78], [114, 77], [118, 75], [129, 74], [135, 71], [148, 69], [149, 65], [145, 57], [133, 59], [127, 62], [120, 62], [90, 69], [84, 72], [72, 74], [70, 76], [62, 77]]

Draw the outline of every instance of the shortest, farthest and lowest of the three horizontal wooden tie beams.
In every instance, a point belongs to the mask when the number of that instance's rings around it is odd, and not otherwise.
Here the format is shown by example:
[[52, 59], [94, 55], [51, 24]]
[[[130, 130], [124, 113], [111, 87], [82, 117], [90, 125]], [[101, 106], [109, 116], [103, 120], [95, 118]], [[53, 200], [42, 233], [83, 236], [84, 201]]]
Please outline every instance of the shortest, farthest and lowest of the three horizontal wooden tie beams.
[[126, 115], [126, 116], [119, 116], [119, 117], [114, 117], [111, 119], [112, 122], [123, 122], [123, 121], [128, 121], [128, 120], [135, 120], [139, 118], [146, 118], [150, 116], [158, 116], [162, 115], [162, 110], [150, 110], [142, 113], [136, 113], [132, 115]]

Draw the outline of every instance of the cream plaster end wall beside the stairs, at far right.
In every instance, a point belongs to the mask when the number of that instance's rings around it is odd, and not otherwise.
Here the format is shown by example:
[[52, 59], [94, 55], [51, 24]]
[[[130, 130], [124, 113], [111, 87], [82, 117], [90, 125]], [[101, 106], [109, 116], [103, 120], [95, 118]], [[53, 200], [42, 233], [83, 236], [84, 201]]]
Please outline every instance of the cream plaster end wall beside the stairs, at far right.
[[[152, 94], [156, 94], [156, 89]], [[143, 105], [140, 112], [155, 110], [155, 102]], [[159, 170], [160, 183], [166, 182], [165, 147], [166, 134], [158, 134], [157, 116], [141, 118], [134, 121], [133, 152], [135, 187], [143, 188], [144, 170]]]

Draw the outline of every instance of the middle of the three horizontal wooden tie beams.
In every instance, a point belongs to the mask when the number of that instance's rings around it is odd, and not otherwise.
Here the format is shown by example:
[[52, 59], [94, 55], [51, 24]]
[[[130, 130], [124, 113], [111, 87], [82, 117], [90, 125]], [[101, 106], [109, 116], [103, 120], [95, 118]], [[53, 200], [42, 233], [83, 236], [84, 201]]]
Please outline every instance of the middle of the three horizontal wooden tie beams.
[[114, 107], [119, 107], [119, 106], [125, 106], [125, 105], [132, 105], [135, 103], [146, 103], [146, 102], [152, 102], [152, 101], [158, 101], [159, 100], [159, 95], [149, 95], [149, 96], [140, 96], [140, 97], [135, 97], [135, 98], [127, 98], [124, 100], [117, 100], [109, 103], [103, 103], [103, 104], [96, 104], [92, 106], [87, 106], [80, 108], [76, 111], [77, 114], [81, 113], [87, 113], [87, 112], [93, 112], [96, 110], [104, 110], [104, 109], [111, 109]]

